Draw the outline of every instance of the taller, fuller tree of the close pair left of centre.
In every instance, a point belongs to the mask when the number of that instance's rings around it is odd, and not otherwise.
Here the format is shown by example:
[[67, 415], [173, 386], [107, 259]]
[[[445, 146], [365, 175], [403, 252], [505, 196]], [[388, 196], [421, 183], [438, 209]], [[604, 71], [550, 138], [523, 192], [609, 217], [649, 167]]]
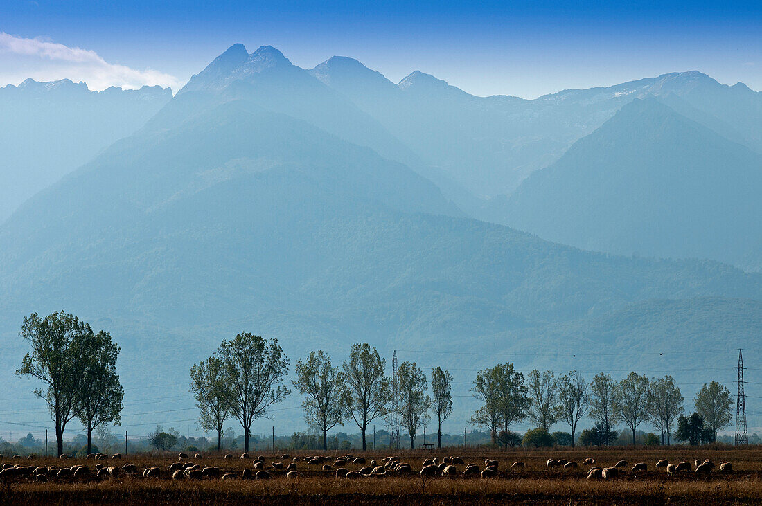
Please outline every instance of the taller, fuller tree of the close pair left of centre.
[[248, 332], [223, 340], [217, 357], [223, 363], [225, 382], [230, 386], [230, 409], [241, 422], [244, 451], [248, 452], [251, 424], [290, 393], [282, 384], [289, 360], [277, 339], [265, 341]]

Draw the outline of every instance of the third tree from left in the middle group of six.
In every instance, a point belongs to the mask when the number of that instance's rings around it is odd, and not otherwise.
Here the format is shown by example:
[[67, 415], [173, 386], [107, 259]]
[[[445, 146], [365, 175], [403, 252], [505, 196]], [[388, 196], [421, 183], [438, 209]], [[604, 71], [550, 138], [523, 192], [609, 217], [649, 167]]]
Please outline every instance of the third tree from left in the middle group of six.
[[328, 431], [344, 425], [349, 411], [344, 373], [331, 367], [331, 357], [322, 350], [309, 352], [306, 361], [296, 361], [293, 386], [305, 396], [302, 407], [306, 422], [322, 431], [323, 450], [328, 450]]

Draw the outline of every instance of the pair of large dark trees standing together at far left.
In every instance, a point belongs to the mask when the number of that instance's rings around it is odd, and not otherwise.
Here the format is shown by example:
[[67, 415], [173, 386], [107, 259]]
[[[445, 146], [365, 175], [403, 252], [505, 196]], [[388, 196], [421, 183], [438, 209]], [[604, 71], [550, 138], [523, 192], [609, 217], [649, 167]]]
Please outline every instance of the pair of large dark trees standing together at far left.
[[24, 355], [20, 376], [35, 377], [45, 387], [34, 390], [56, 423], [58, 454], [63, 453], [66, 424], [78, 418], [87, 431], [88, 453], [98, 426], [120, 424], [124, 390], [117, 374], [120, 348], [109, 333], [94, 333], [88, 323], [59, 311], [24, 318], [21, 337], [31, 351]]

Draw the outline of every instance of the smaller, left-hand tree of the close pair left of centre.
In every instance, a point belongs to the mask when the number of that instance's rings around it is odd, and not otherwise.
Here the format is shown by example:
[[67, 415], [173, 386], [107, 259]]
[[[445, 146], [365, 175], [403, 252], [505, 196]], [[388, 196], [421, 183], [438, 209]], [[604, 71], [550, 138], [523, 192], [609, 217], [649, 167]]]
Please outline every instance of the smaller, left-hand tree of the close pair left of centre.
[[232, 389], [223, 361], [210, 357], [191, 367], [191, 392], [203, 428], [217, 432], [217, 450], [223, 446], [223, 425], [230, 418]]

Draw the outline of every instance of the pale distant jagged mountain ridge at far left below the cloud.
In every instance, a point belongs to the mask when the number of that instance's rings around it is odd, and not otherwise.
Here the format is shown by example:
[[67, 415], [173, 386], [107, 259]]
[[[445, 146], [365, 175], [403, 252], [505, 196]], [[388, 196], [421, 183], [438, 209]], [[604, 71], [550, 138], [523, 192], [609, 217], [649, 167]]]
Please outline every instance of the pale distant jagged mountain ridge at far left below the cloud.
[[0, 88], [0, 222], [21, 202], [139, 129], [169, 88], [90, 91], [69, 79]]

